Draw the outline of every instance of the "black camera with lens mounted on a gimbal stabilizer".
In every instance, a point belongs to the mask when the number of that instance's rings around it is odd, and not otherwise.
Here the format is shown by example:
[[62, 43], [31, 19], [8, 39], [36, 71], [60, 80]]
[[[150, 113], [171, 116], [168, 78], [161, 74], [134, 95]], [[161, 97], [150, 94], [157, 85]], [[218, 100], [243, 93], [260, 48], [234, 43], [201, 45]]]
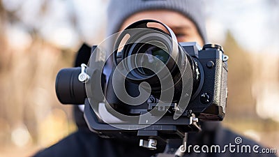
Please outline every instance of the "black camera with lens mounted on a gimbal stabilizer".
[[167, 25], [141, 20], [88, 54], [81, 67], [59, 71], [56, 95], [84, 104], [89, 129], [103, 137], [156, 149], [225, 116], [228, 57], [220, 45], [178, 43]]

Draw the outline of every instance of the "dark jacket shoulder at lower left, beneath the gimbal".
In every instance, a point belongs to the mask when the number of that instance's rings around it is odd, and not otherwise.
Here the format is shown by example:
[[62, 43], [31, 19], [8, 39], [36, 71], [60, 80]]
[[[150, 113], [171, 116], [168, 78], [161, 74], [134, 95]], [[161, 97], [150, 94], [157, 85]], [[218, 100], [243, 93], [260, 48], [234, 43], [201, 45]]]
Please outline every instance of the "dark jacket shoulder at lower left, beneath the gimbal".
[[51, 147], [39, 151], [36, 157], [119, 157], [134, 156], [147, 157], [154, 154], [143, 147], [139, 147], [138, 142], [123, 139], [110, 139], [99, 137], [90, 130], [77, 130], [77, 132], [65, 137], [60, 142]]

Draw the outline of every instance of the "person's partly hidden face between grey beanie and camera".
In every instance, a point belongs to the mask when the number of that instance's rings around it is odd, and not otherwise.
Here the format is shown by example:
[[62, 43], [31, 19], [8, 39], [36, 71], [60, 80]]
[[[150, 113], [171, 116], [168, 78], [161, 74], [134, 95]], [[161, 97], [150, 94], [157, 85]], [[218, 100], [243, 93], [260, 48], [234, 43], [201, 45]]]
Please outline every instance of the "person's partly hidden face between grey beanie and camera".
[[[174, 31], [179, 42], [197, 42], [199, 45], [204, 45], [202, 37], [199, 36], [197, 27], [186, 16], [172, 10], [145, 10], [128, 17], [122, 24], [120, 31], [123, 31], [133, 22], [139, 20], [157, 20], [166, 24], [172, 31]], [[158, 27], [156, 25], [156, 27]], [[163, 29], [162, 26], [159, 29]]]

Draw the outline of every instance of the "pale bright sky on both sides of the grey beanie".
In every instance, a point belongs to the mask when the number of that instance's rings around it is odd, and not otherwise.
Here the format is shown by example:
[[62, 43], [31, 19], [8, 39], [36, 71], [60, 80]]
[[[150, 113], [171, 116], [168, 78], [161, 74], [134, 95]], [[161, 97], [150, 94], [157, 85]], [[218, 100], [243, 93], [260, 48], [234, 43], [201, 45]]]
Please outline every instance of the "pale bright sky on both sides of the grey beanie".
[[[77, 47], [80, 40], [96, 45], [105, 38], [100, 40], [99, 32], [105, 29], [106, 0], [48, 0], [49, 7], [43, 15], [39, 11], [43, 0], [2, 1], [8, 10], [17, 10], [23, 22], [8, 27], [11, 43], [18, 45], [16, 41], [24, 39], [22, 45], [28, 45], [31, 38], [24, 31], [30, 27], [38, 29], [43, 38], [59, 47]], [[204, 3], [210, 41], [222, 44], [229, 30], [252, 53], [268, 49], [279, 55], [278, 0], [207, 0]], [[75, 26], [70, 17], [76, 17]]]

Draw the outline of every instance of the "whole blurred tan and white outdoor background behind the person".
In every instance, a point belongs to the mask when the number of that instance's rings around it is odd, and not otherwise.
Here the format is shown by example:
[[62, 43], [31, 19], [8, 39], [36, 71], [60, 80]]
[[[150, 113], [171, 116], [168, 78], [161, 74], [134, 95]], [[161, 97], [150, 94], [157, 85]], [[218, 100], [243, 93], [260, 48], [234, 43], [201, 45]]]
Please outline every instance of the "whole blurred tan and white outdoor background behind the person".
[[[0, 157], [31, 156], [76, 129], [54, 82], [82, 43], [105, 39], [108, 0], [0, 0]], [[229, 55], [223, 124], [279, 151], [279, 0], [207, 0], [209, 40]]]

